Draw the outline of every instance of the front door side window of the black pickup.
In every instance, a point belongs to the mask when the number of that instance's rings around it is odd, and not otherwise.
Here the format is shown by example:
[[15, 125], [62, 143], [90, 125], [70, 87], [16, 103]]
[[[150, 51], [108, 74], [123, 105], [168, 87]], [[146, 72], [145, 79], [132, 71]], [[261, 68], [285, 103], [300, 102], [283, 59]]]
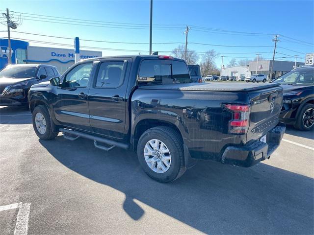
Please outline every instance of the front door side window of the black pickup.
[[92, 70], [92, 63], [80, 64], [74, 67], [65, 76], [63, 87], [87, 87], [90, 71]]

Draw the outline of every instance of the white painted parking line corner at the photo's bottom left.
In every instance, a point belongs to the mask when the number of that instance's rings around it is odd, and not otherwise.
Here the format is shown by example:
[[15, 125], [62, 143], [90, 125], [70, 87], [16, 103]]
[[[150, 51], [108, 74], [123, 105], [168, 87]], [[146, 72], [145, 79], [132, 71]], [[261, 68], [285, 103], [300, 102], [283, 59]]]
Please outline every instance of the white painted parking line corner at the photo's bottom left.
[[12, 210], [16, 208], [19, 208], [19, 212], [16, 218], [14, 235], [27, 235], [30, 203], [19, 202], [10, 205], [0, 206], [0, 211]]

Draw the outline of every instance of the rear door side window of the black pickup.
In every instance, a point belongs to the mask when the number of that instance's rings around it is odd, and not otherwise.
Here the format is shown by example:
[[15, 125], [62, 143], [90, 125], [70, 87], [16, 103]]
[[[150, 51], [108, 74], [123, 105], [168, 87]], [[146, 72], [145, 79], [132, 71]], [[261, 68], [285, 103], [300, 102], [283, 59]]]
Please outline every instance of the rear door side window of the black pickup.
[[99, 88], [117, 88], [123, 83], [127, 61], [102, 62], [96, 85]]

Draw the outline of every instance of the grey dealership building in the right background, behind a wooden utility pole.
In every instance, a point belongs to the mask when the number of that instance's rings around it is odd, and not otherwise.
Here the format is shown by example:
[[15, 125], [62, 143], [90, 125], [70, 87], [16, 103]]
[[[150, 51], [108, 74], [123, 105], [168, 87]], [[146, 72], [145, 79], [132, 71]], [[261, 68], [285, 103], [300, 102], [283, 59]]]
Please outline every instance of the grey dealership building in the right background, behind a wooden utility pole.
[[[255, 73], [265, 74], [269, 78], [271, 71], [272, 60], [252, 61], [249, 64], [250, 75]], [[288, 71], [294, 69], [294, 63], [292, 61], [279, 61], [275, 60], [273, 65], [272, 79], [277, 78]], [[303, 66], [304, 63], [296, 62], [296, 67]]]

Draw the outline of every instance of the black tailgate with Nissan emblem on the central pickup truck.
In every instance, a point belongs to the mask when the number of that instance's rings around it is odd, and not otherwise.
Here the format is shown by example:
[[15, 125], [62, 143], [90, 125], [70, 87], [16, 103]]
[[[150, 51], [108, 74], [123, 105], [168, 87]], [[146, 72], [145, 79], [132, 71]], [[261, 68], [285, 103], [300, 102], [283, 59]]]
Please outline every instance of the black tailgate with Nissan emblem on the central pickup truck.
[[247, 141], [257, 140], [279, 122], [283, 102], [283, 88], [270, 87], [248, 93], [251, 100], [250, 126]]

